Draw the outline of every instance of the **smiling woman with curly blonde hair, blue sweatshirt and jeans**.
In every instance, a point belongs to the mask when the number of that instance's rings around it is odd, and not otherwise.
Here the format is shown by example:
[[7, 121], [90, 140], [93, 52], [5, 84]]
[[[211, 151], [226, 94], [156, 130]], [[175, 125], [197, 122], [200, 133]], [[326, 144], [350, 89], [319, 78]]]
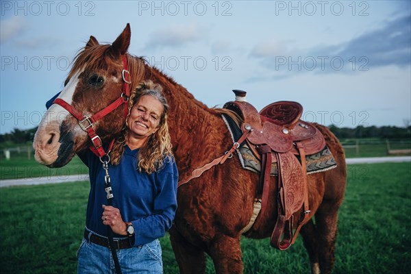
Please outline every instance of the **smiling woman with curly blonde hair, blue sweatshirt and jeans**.
[[130, 96], [125, 129], [110, 152], [113, 206], [107, 206], [99, 158], [91, 151], [79, 153], [89, 168], [91, 188], [78, 273], [114, 273], [108, 227], [123, 273], [162, 273], [158, 238], [173, 223], [178, 174], [167, 126], [169, 105], [161, 90], [142, 82]]

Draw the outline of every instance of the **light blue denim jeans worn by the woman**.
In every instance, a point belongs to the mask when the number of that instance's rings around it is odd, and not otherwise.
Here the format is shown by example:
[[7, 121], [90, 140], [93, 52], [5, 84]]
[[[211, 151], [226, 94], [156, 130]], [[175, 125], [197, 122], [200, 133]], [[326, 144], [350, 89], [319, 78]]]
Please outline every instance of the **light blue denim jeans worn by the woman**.
[[[145, 245], [116, 251], [121, 272], [128, 273], [163, 273], [162, 250], [159, 240], [153, 240]], [[77, 251], [79, 274], [115, 274], [116, 269], [112, 253], [108, 247], [96, 245], [88, 239], [83, 239]]]

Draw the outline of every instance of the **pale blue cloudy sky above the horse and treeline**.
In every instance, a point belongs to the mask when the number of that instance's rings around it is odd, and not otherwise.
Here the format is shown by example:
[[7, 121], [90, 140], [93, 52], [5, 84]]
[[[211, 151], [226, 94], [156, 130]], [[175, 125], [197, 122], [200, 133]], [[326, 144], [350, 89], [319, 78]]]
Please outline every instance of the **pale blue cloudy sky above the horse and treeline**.
[[298, 101], [302, 119], [404, 127], [411, 119], [410, 1], [1, 1], [0, 134], [36, 127], [75, 54], [130, 23], [145, 56], [199, 101], [233, 89], [258, 110]]

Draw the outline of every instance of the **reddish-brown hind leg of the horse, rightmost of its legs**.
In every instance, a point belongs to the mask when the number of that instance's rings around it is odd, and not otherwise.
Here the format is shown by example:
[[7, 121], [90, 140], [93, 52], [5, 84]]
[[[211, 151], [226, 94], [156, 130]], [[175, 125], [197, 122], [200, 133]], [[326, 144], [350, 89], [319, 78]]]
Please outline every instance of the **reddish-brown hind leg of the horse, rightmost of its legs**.
[[335, 201], [326, 200], [315, 214], [321, 274], [331, 273], [334, 266], [338, 208]]

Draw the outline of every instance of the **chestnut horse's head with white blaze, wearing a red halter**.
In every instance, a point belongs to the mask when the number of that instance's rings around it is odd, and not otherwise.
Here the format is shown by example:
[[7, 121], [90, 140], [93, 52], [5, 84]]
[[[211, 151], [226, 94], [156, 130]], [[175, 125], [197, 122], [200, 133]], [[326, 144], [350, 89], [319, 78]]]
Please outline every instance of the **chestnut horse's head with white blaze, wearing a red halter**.
[[[75, 58], [64, 89], [57, 97], [59, 100], [51, 105], [38, 126], [33, 142], [37, 162], [49, 167], [60, 167], [70, 162], [75, 153], [90, 145], [85, 130], [89, 126], [101, 136], [103, 142], [121, 132], [125, 121], [123, 107], [115, 108], [99, 121], [86, 120], [82, 123], [73, 112], [82, 117], [92, 116], [124, 97], [123, 69], [132, 71], [128, 73], [126, 70], [127, 76], [132, 79], [130, 88], [141, 80], [144, 62], [127, 54], [130, 36], [129, 24], [111, 45], [100, 45], [94, 36], [90, 36]], [[73, 111], [69, 112], [69, 108], [64, 108], [57, 101], [65, 102]]]

